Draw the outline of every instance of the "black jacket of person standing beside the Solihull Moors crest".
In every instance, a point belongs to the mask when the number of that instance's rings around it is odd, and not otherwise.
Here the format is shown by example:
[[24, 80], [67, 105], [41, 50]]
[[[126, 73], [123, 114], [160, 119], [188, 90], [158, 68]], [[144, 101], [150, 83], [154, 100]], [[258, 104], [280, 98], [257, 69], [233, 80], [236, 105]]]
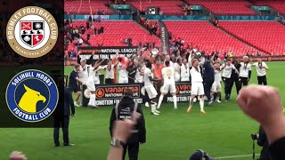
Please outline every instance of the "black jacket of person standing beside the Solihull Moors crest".
[[72, 114], [75, 114], [74, 103], [69, 89], [64, 86], [64, 88], [61, 87], [59, 92], [61, 96], [64, 95], [64, 100], [63, 99], [59, 100], [58, 105], [53, 112], [53, 116], [57, 117], [70, 116], [70, 112]]

